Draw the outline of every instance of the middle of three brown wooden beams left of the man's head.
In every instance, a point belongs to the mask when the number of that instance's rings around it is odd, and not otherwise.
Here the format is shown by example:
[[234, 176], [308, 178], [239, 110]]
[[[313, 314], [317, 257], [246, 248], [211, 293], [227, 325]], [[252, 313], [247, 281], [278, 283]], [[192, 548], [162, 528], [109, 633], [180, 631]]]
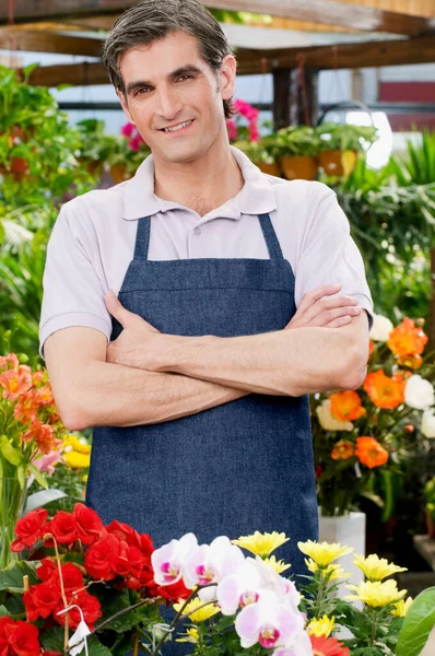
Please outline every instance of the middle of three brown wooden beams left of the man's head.
[[61, 55], [81, 55], [101, 57], [103, 40], [97, 38], [67, 36], [54, 32], [24, 32], [22, 30], [2, 30], [0, 49], [31, 50], [35, 52], [56, 52]]

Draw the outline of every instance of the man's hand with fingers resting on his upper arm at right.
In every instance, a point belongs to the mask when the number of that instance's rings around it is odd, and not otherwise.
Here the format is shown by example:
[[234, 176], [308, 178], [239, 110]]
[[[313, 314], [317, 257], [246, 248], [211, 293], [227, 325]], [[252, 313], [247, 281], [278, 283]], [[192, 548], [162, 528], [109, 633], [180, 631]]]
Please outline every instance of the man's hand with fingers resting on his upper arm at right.
[[325, 284], [307, 292], [287, 328], [339, 328], [362, 313], [354, 296], [338, 295], [341, 284]]

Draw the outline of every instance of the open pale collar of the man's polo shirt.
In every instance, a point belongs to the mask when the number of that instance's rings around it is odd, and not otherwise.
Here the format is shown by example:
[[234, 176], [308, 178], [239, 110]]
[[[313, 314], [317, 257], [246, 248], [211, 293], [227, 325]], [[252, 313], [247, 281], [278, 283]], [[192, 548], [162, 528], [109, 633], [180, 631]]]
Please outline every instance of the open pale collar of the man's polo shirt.
[[[245, 185], [234, 198], [230, 199], [211, 214], [222, 219], [240, 219], [242, 214], [266, 214], [277, 209], [275, 196], [267, 175], [236, 148], [230, 147], [242, 169]], [[157, 212], [186, 209], [183, 206], [162, 200], [154, 194], [154, 157], [149, 155], [139, 166], [136, 175], [125, 183], [124, 219], [132, 221], [141, 216], [152, 216]]]

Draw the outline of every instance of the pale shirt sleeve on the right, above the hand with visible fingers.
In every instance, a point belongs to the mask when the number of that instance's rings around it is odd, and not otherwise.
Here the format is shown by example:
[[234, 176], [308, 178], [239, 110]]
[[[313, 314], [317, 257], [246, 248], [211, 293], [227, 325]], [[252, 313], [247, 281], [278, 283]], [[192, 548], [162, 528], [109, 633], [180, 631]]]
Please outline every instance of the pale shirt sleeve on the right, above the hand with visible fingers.
[[295, 272], [295, 302], [299, 305], [304, 294], [322, 284], [341, 284], [340, 294], [355, 296], [367, 312], [373, 325], [373, 301], [367, 285], [364, 262], [353, 241], [346, 215], [337, 195], [326, 185], [315, 184], [321, 190], [314, 201], [311, 222], [304, 235], [304, 244]]

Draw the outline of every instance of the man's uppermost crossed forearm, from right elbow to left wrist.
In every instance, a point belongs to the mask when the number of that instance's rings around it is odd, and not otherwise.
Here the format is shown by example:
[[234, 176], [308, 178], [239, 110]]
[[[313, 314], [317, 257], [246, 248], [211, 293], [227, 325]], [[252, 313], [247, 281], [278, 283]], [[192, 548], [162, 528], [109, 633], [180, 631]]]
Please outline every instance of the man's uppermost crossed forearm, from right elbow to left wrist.
[[270, 395], [358, 387], [367, 362], [367, 320], [354, 321], [352, 330], [305, 327], [236, 338], [167, 336], [166, 363], [158, 371]]

